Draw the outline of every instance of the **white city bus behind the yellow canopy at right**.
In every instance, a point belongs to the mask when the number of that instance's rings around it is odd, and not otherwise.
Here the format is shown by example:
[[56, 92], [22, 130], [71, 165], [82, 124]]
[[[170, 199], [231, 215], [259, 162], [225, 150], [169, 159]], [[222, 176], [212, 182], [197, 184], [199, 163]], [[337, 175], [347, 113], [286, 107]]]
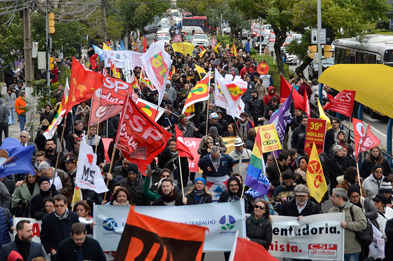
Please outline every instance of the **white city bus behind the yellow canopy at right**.
[[393, 35], [335, 40], [336, 64], [384, 64], [393, 67]]

